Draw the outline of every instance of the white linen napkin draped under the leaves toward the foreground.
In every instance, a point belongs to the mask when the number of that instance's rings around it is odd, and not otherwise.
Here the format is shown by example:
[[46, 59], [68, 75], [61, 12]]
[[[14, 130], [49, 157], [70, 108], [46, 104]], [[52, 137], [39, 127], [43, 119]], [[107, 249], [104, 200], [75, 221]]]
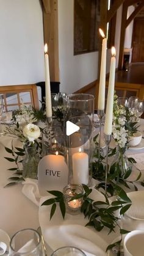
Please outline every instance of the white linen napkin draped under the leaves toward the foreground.
[[[107, 242], [101, 238], [100, 233], [90, 227], [85, 227], [88, 220], [84, 219], [83, 214], [66, 214], [65, 220], [63, 220], [59, 206], [57, 206], [56, 213], [51, 221], [49, 221], [51, 205], [41, 207], [41, 203], [51, 198], [52, 195], [48, 194], [48, 196], [40, 198], [36, 180], [27, 178], [23, 185], [23, 194], [36, 205], [40, 203], [40, 227], [46, 243], [48, 243], [53, 251], [62, 246], [75, 246], [85, 251], [85, 254], [89, 256], [106, 255]], [[92, 198], [95, 200], [104, 200], [103, 197], [96, 190], [92, 192]]]

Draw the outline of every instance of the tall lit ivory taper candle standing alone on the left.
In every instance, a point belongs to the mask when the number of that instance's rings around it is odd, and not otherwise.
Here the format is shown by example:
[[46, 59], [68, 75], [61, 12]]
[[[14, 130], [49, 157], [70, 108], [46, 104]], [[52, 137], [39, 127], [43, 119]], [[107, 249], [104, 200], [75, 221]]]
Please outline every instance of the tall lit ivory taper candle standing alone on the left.
[[49, 76], [48, 45], [45, 44], [45, 92], [46, 92], [46, 117], [52, 117], [51, 86]]

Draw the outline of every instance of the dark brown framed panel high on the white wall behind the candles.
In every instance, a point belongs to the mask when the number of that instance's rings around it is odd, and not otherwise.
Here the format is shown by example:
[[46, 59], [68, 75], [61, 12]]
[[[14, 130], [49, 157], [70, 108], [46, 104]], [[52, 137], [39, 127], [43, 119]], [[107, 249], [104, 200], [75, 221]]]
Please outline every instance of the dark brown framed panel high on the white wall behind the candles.
[[99, 0], [74, 0], [74, 55], [98, 50]]

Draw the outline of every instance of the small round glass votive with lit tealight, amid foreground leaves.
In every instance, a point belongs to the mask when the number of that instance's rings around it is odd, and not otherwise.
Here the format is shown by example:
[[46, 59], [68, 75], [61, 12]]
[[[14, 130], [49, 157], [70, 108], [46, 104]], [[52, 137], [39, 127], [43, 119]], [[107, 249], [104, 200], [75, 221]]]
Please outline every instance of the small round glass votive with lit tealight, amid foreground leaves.
[[81, 212], [81, 206], [83, 202], [82, 197], [74, 200], [71, 200], [71, 199], [77, 194], [83, 194], [83, 192], [84, 192], [84, 189], [82, 188], [81, 185], [67, 185], [65, 186], [65, 188], [63, 188], [63, 195], [65, 199], [65, 207], [66, 207], [67, 213], [75, 215]]

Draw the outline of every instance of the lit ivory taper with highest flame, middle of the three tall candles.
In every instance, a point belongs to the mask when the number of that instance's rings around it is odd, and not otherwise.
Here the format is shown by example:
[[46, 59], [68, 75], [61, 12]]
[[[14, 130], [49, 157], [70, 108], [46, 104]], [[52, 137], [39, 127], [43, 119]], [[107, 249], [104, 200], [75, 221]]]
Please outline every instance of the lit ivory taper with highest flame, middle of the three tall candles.
[[102, 50], [101, 50], [101, 69], [99, 76], [99, 93], [98, 93], [98, 109], [104, 110], [105, 104], [105, 89], [106, 89], [106, 56], [107, 56], [107, 38], [102, 29], [99, 33], [103, 37]]

